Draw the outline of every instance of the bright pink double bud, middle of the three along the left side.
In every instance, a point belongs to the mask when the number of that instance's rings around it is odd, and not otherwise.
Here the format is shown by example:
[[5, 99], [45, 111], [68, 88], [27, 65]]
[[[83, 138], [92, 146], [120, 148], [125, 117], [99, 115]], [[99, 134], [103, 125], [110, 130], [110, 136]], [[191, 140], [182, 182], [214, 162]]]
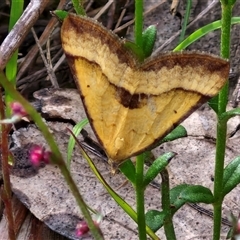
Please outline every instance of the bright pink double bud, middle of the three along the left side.
[[31, 163], [38, 167], [41, 162], [48, 164], [50, 162], [50, 151], [45, 151], [45, 149], [39, 145], [34, 145], [30, 150], [30, 161]]

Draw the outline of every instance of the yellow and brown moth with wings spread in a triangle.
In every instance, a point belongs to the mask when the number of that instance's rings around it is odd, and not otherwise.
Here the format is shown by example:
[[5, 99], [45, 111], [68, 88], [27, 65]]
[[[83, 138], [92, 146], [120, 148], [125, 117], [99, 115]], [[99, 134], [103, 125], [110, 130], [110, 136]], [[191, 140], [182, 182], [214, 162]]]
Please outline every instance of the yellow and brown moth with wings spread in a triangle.
[[91, 126], [114, 166], [151, 149], [228, 78], [227, 61], [199, 52], [140, 63], [116, 35], [86, 17], [65, 18], [61, 38]]

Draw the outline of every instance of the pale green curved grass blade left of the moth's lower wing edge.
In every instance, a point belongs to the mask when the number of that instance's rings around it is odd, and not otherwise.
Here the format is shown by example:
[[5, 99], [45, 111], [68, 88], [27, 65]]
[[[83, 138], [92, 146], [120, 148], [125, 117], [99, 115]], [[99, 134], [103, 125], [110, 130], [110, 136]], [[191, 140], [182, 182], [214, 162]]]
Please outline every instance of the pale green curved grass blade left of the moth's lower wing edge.
[[[72, 130], [75, 136], [78, 136], [78, 134], [82, 131], [82, 129], [88, 124], [88, 119], [85, 118], [78, 124], [76, 124]], [[68, 148], [67, 148], [67, 167], [70, 169], [70, 164], [71, 164], [71, 158], [72, 158], [72, 152], [75, 146], [75, 139], [73, 136], [70, 136], [69, 142], [68, 142]]]

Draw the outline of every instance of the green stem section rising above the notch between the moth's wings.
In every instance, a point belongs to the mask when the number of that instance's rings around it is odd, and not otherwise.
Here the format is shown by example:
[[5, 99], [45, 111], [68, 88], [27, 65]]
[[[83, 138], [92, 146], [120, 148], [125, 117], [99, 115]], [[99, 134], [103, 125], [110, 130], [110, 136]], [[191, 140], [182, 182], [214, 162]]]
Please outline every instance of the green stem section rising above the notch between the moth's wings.
[[140, 49], [143, 49], [143, 0], [135, 0], [135, 43]]

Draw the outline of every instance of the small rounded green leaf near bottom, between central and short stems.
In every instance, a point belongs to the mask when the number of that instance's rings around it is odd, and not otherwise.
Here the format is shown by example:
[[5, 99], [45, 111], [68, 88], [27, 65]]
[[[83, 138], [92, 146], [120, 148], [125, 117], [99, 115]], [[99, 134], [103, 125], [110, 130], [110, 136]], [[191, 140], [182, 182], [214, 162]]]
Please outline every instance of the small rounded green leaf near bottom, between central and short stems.
[[166, 214], [163, 211], [159, 212], [157, 210], [149, 210], [145, 216], [147, 226], [149, 226], [152, 231], [156, 232], [163, 226]]

